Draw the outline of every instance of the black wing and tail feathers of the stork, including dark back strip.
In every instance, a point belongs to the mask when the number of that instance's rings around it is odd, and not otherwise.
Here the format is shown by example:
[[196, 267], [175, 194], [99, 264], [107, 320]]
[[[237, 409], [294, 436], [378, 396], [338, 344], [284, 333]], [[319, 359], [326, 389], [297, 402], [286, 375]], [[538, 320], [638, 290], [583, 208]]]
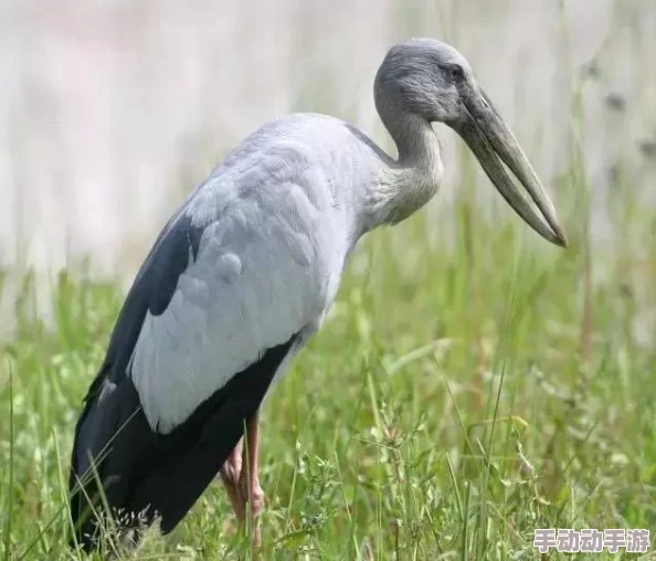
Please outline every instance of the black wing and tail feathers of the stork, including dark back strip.
[[103, 367], [85, 398], [75, 427], [70, 491], [77, 541], [87, 550], [96, 544], [91, 506], [97, 506], [100, 493], [112, 516], [121, 515], [119, 526], [130, 526], [138, 512], [147, 523], [159, 516], [165, 532], [180, 521], [239, 442], [244, 422], [257, 411], [296, 340], [292, 336], [264, 352], [170, 434], [150, 428], [127, 374], [129, 360], [147, 311], [157, 316], [167, 309], [190, 255], [198, 255], [203, 231], [184, 209], [167, 224], [126, 297]]

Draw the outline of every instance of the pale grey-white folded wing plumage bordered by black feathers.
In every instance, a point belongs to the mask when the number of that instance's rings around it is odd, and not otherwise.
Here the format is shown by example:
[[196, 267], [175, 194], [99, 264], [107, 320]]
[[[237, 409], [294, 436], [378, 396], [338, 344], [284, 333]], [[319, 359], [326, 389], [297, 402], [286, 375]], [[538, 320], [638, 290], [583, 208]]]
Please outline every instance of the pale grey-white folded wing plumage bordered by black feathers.
[[316, 330], [335, 297], [345, 218], [326, 178], [286, 156], [250, 161], [239, 181], [230, 171], [210, 178], [190, 200], [186, 212], [208, 224], [198, 257], [190, 253], [163, 314], [147, 314], [130, 364], [160, 433], [267, 349]]

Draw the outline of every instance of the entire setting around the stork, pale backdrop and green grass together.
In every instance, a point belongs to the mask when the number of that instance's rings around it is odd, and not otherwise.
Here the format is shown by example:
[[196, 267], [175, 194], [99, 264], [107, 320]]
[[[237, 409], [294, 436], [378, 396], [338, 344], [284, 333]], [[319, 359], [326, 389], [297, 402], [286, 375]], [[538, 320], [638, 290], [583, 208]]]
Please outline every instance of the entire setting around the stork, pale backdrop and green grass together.
[[[440, 193], [359, 245], [265, 407], [273, 559], [532, 559], [550, 527], [654, 542], [654, 0], [0, 0], [0, 558], [72, 559], [72, 427], [186, 194], [289, 112], [395, 155], [373, 77], [422, 35], [470, 61], [570, 247], [435, 125]], [[140, 559], [248, 559], [212, 487]]]

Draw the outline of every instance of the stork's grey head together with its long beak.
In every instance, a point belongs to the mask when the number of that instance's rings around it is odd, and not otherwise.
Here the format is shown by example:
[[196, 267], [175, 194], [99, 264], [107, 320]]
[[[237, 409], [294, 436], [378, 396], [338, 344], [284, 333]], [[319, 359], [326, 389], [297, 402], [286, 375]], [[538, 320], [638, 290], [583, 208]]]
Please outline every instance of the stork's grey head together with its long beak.
[[[478, 85], [469, 63], [454, 47], [432, 39], [394, 45], [378, 71], [374, 93], [377, 108], [388, 119], [420, 117], [453, 128], [512, 209], [540, 235], [567, 246], [564, 231], [536, 171]], [[506, 167], [528, 191], [540, 214]]]

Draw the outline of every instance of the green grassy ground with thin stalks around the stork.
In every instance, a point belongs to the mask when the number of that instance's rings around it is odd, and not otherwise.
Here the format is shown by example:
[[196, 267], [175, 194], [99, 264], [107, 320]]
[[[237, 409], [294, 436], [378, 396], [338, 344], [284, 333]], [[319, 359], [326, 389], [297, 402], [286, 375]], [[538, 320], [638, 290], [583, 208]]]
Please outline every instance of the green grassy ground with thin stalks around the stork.
[[[263, 558], [531, 559], [535, 528], [656, 531], [655, 351], [635, 337], [656, 263], [600, 254], [590, 282], [576, 212], [568, 251], [464, 202], [455, 231], [424, 214], [367, 240], [264, 411]], [[653, 220], [625, 219], [613, 227]], [[65, 546], [71, 438], [121, 296], [62, 276], [49, 330], [32, 294], [2, 360], [3, 559], [82, 559]], [[244, 559], [247, 543], [213, 485], [126, 557]]]

